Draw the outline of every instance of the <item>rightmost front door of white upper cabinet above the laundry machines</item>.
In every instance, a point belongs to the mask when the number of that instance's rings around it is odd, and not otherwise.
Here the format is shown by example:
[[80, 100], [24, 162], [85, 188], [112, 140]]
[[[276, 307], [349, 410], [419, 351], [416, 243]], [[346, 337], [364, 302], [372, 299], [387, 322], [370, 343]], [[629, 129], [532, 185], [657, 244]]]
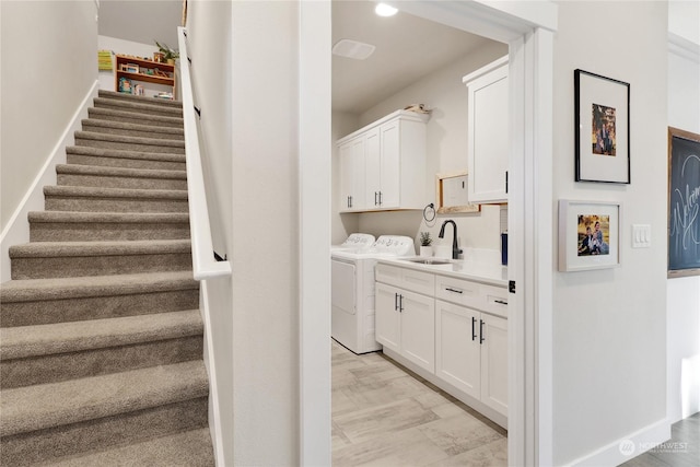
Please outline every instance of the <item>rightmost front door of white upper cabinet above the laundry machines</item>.
[[380, 206], [398, 208], [400, 206], [401, 147], [400, 124], [390, 121], [380, 127], [382, 161], [380, 167]]

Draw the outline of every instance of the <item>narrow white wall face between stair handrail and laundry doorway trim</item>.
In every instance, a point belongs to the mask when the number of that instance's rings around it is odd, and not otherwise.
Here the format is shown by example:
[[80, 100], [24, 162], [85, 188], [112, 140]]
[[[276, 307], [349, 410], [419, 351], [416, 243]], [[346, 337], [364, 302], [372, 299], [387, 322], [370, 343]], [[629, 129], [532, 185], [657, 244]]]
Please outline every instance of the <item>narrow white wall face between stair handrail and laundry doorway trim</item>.
[[296, 465], [299, 3], [232, 2], [232, 465]]

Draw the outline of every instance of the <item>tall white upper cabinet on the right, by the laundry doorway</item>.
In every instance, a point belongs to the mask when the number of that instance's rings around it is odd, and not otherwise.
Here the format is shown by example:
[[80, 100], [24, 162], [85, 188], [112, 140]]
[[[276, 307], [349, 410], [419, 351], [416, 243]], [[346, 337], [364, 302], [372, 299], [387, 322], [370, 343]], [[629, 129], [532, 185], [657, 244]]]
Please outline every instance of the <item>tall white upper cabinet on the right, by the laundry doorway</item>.
[[508, 202], [508, 57], [462, 80], [468, 93], [469, 202]]

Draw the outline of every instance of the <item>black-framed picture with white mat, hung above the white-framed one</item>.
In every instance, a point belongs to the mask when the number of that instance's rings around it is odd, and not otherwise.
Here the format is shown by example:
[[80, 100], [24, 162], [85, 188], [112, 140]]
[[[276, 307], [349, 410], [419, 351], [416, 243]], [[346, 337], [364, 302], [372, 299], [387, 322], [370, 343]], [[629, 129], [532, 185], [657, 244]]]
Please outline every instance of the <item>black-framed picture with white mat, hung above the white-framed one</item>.
[[574, 70], [576, 182], [630, 183], [630, 84]]

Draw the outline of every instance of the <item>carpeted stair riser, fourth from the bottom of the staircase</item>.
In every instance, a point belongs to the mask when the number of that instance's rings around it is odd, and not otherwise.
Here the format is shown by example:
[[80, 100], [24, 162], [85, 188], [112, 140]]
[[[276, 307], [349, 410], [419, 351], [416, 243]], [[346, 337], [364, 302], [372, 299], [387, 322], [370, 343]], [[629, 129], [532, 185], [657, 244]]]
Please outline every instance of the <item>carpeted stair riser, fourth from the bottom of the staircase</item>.
[[74, 278], [191, 270], [191, 253], [12, 258], [12, 279]]

